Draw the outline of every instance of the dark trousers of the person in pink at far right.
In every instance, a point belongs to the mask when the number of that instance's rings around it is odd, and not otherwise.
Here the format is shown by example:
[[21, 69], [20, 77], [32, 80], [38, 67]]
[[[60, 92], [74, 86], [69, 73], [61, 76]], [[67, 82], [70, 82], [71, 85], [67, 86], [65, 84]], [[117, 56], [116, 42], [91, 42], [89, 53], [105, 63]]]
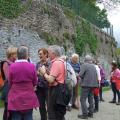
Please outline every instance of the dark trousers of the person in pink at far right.
[[113, 92], [113, 101], [116, 101], [116, 95], [118, 95], [118, 102], [120, 102], [120, 92], [116, 89], [116, 83], [111, 82], [111, 88]]

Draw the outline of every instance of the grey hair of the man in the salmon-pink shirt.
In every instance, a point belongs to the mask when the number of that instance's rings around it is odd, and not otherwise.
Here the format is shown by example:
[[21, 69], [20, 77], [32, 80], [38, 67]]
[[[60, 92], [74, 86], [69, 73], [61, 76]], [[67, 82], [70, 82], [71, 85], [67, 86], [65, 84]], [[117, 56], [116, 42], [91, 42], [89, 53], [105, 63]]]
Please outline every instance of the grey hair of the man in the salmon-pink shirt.
[[61, 47], [58, 45], [51, 45], [49, 49], [57, 56], [60, 57], [62, 55]]

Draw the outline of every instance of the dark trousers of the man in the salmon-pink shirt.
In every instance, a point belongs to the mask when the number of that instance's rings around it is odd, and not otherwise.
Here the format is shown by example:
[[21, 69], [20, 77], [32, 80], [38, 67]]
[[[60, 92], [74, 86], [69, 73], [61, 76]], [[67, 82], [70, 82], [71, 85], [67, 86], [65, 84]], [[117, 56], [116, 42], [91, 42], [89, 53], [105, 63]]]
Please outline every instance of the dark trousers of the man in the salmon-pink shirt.
[[64, 120], [66, 106], [56, 104], [55, 101], [56, 87], [50, 87], [48, 92], [48, 120]]

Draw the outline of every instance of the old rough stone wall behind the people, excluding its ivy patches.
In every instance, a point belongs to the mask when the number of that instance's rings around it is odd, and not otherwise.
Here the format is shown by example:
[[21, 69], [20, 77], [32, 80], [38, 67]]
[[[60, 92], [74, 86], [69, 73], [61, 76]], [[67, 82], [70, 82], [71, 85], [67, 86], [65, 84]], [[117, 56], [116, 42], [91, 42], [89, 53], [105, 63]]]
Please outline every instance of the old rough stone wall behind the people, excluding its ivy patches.
[[[43, 1], [33, 0], [29, 10], [17, 19], [8, 20], [0, 17], [0, 59], [5, 58], [5, 51], [8, 46], [27, 45], [30, 48], [32, 61], [36, 62], [38, 60], [38, 49], [48, 46], [45, 40], [41, 38], [44, 32], [56, 36], [61, 47], [67, 44], [68, 55], [75, 52], [72, 39], [67, 43], [63, 41], [64, 33], [69, 33], [70, 38], [75, 34], [75, 23], [65, 16], [59, 6], [46, 4]], [[78, 20], [80, 21], [81, 18]], [[109, 76], [110, 63], [116, 58], [115, 39], [94, 25], [91, 26], [98, 38], [96, 58], [103, 64], [107, 76]], [[89, 53], [88, 51], [87, 53]]]

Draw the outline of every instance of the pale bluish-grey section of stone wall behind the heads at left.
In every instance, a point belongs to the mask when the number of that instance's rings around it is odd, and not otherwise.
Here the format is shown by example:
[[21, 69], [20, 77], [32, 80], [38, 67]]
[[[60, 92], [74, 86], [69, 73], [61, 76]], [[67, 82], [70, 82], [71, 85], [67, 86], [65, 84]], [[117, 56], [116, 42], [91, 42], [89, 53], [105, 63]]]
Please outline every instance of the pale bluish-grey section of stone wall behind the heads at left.
[[47, 47], [45, 40], [41, 39], [37, 32], [31, 30], [25, 30], [13, 26], [11, 28], [1, 28], [0, 30], [0, 59], [5, 59], [6, 49], [9, 46], [19, 47], [20, 45], [26, 45], [30, 50], [31, 60], [36, 63], [38, 61], [38, 49], [41, 47]]

